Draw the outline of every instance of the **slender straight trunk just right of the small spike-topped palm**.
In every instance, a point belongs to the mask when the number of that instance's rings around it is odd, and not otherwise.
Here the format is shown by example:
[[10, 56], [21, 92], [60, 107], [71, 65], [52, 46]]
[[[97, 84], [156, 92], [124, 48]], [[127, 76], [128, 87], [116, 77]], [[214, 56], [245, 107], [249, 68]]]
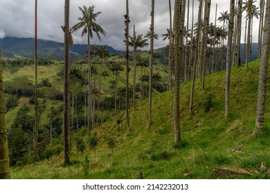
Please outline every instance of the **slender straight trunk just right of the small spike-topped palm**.
[[152, 124], [152, 76], [153, 76], [153, 52], [154, 52], [154, 0], [152, 0], [151, 26], [150, 26], [150, 73], [149, 73], [149, 126]]

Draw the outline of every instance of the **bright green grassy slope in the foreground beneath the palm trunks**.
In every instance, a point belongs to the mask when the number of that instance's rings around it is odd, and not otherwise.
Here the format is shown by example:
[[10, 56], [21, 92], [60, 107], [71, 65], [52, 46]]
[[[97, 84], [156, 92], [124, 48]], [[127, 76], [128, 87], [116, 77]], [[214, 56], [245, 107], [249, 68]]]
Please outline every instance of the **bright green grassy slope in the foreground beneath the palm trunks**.
[[[130, 110], [132, 131], [127, 131], [125, 112], [102, 127], [98, 134], [97, 156], [87, 145], [79, 153], [72, 146], [72, 164], [64, 167], [62, 154], [32, 165], [12, 167], [12, 179], [265, 179], [263, 162], [270, 167], [270, 93], [267, 92], [265, 133], [252, 136], [258, 89], [259, 61], [233, 68], [231, 75], [231, 114], [224, 118], [225, 72], [206, 77], [206, 88], [195, 87], [195, 112], [188, 112], [190, 83], [181, 85], [181, 144], [174, 145], [173, 94], [164, 92], [153, 98], [153, 124], [147, 128], [148, 100]], [[270, 74], [270, 73], [269, 73]], [[268, 90], [269, 89], [268, 79]], [[211, 101], [207, 99], [211, 98]], [[206, 108], [208, 112], [206, 111]], [[86, 134], [82, 129], [80, 134]], [[114, 136], [114, 154], [107, 139]], [[87, 141], [85, 137], [84, 141]], [[242, 152], [233, 149], [242, 146]], [[84, 175], [84, 157], [89, 157], [89, 174]], [[244, 169], [246, 174], [217, 172], [215, 168]], [[244, 172], [242, 172], [244, 173]]]

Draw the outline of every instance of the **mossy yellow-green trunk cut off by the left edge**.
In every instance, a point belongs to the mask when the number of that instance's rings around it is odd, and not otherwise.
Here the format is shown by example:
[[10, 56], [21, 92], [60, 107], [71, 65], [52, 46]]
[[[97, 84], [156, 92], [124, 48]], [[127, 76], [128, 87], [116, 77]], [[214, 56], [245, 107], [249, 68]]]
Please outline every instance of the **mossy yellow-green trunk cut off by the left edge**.
[[[0, 50], [1, 54], [1, 50]], [[6, 105], [3, 88], [2, 63], [0, 55], [0, 179], [10, 179], [8, 158], [8, 131], [6, 129]]]

